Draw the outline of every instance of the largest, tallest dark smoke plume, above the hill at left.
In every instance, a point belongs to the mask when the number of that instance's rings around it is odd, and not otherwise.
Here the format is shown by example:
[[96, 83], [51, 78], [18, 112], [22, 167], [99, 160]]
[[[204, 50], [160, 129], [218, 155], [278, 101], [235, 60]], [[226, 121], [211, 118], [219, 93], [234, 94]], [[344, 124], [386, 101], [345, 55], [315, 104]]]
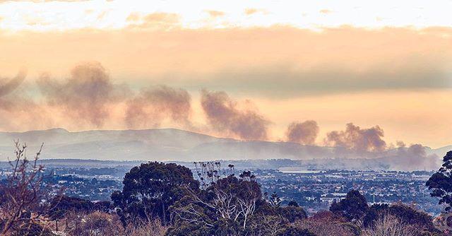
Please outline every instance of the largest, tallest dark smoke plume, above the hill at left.
[[124, 88], [114, 85], [100, 63], [80, 64], [71, 77], [56, 81], [43, 75], [38, 85], [52, 106], [61, 107], [74, 120], [83, 120], [97, 127], [109, 117], [107, 105], [119, 100]]

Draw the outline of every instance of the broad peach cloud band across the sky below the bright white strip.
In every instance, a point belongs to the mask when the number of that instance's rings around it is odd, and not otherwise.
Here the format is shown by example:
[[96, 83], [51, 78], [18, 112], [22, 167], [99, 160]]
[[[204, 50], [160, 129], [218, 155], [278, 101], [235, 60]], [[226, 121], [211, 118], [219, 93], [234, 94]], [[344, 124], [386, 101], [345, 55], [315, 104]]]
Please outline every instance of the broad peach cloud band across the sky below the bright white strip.
[[[11, 64], [20, 66], [27, 58], [33, 71], [50, 67], [58, 73], [95, 58], [130, 83], [147, 78], [192, 90], [268, 98], [452, 87], [451, 28], [183, 30], [177, 28], [177, 16], [154, 13], [150, 22], [163, 27], [147, 30], [140, 28], [145, 16], [129, 18], [135, 18], [131, 25], [136, 28], [21, 33], [0, 35], [0, 40]], [[28, 44], [19, 45], [23, 38]], [[49, 50], [59, 59], [37, 57]]]

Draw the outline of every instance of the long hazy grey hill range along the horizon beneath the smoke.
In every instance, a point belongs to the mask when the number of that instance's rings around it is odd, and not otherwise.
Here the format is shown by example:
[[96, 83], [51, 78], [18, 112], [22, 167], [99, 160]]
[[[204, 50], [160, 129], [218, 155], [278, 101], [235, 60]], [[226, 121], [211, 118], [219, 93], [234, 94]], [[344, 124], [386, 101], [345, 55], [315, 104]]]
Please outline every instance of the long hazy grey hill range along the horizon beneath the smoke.
[[[0, 161], [13, 154], [13, 140], [28, 143], [32, 155], [44, 142], [43, 159], [81, 160], [158, 160], [192, 162], [194, 160], [315, 160], [312, 165], [345, 168], [350, 165], [363, 168], [400, 168], [403, 161], [395, 150], [384, 153], [356, 155], [323, 146], [304, 146], [298, 143], [271, 141], [238, 141], [232, 138], [217, 138], [179, 129], [144, 130], [93, 130], [70, 132], [65, 129], [49, 129], [26, 132], [0, 132]], [[438, 159], [452, 146], [431, 149], [427, 154], [436, 154]], [[375, 159], [353, 161], [343, 159]], [[406, 157], [405, 157], [406, 159]], [[309, 163], [309, 162], [304, 162]], [[321, 163], [321, 164], [319, 164]], [[355, 163], [355, 164], [354, 164]], [[364, 164], [363, 164], [364, 163]], [[395, 165], [391, 165], [396, 163]], [[259, 163], [259, 165], [267, 165]], [[423, 170], [424, 165], [419, 169]]]

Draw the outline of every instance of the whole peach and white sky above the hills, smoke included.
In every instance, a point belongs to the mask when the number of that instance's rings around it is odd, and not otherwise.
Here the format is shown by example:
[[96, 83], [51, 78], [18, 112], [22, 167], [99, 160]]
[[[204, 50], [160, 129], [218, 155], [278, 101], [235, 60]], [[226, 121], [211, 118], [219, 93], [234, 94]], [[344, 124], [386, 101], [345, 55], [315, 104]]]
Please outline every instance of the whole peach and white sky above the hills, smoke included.
[[0, 0], [0, 131], [177, 128], [310, 145], [371, 133], [439, 148], [452, 144], [451, 11]]

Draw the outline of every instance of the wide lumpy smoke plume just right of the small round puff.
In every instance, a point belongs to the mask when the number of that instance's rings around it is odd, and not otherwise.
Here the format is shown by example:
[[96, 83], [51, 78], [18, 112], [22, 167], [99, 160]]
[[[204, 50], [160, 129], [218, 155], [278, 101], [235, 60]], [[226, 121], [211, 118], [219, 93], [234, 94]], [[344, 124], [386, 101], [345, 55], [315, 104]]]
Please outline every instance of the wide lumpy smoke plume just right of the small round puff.
[[326, 134], [325, 143], [329, 146], [347, 148], [357, 153], [381, 152], [386, 149], [383, 136], [383, 129], [378, 125], [369, 129], [361, 129], [359, 126], [349, 123], [345, 131], [331, 131]]

